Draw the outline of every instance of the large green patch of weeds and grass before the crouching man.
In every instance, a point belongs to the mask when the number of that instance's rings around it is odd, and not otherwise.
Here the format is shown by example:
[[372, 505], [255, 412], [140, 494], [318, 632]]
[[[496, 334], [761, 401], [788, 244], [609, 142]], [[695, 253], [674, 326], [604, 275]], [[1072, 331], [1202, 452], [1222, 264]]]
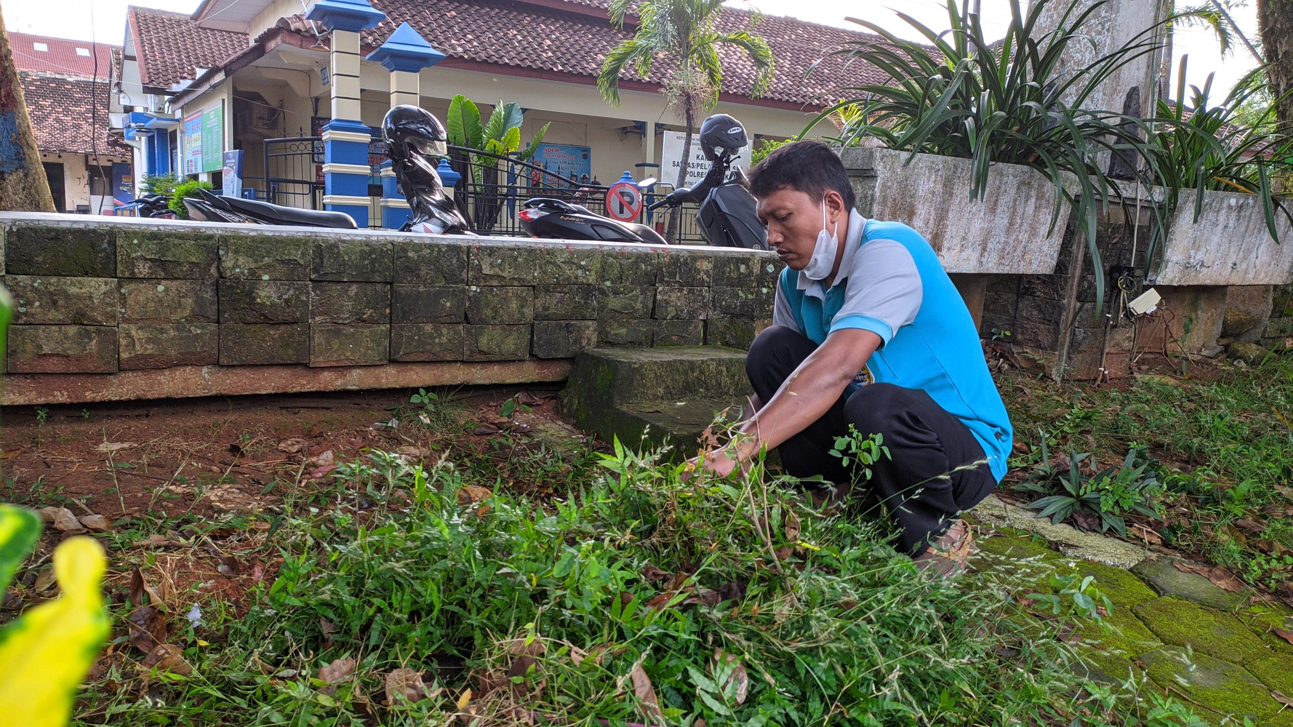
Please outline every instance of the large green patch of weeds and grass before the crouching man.
[[[131, 653], [118, 603], [74, 723], [1191, 724], [1077, 677], [1055, 638], [1071, 604], [1038, 626], [1019, 583], [919, 573], [878, 524], [760, 468], [683, 481], [618, 446], [596, 464], [568, 462], [555, 499], [481, 486], [487, 464], [374, 451], [269, 526], [208, 529], [194, 548], [238, 551], [260, 585], [242, 607], [175, 587], [187, 674]], [[115, 568], [154, 558], [137, 554]]]

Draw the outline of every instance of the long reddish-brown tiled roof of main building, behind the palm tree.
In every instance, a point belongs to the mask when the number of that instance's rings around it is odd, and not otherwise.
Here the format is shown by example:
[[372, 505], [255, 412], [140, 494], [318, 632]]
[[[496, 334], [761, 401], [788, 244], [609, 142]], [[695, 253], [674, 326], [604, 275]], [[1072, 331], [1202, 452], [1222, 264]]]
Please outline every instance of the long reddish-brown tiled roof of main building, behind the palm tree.
[[[604, 9], [606, 0], [372, 0], [387, 13], [375, 28], [365, 31], [367, 45], [379, 45], [403, 21], [451, 58], [525, 69], [543, 74], [569, 74], [595, 79], [606, 53], [631, 36], [615, 30], [605, 17], [590, 14]], [[569, 9], [561, 5], [569, 5]], [[723, 10], [719, 28], [734, 31], [750, 25], [751, 13]], [[776, 79], [765, 98], [791, 105], [820, 106], [828, 91], [840, 85], [884, 83], [873, 66], [843, 58], [822, 62], [808, 78], [809, 67], [840, 43], [879, 40], [878, 36], [795, 18], [765, 17], [755, 32], [768, 41], [776, 58]], [[723, 91], [749, 96], [754, 67], [743, 52], [724, 48]], [[504, 71], [506, 72], [506, 71]], [[648, 80], [659, 84], [667, 66], [657, 63]], [[625, 74], [625, 79], [636, 79]]]

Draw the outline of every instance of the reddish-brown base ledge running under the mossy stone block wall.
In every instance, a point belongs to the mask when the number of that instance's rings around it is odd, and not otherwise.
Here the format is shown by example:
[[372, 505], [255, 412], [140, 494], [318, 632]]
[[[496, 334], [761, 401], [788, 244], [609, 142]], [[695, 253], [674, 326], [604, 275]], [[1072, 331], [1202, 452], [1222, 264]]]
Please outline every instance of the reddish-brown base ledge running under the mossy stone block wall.
[[116, 374], [10, 374], [5, 376], [0, 405], [561, 382], [570, 374], [570, 360], [436, 361], [326, 369], [305, 365], [173, 366]]

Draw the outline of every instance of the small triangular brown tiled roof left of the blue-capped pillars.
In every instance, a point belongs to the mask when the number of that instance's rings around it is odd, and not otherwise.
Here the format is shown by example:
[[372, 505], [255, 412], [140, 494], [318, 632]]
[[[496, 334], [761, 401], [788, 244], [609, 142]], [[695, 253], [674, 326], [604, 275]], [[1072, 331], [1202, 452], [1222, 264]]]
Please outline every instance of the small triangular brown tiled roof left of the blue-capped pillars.
[[219, 66], [247, 49], [247, 34], [198, 27], [186, 13], [132, 5], [128, 22], [140, 80], [154, 88], [191, 80], [195, 69]]

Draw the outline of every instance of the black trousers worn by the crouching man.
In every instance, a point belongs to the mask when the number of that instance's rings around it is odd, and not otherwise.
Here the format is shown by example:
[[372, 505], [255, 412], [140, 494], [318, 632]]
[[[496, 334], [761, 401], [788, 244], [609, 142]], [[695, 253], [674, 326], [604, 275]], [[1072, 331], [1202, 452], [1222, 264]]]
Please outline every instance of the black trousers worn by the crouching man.
[[[745, 361], [759, 400], [771, 401], [816, 348], [785, 326], [759, 334]], [[957, 467], [985, 458], [979, 441], [924, 391], [884, 383], [840, 396], [821, 419], [777, 448], [781, 466], [800, 479], [820, 475], [835, 484], [851, 481], [848, 468], [830, 454], [835, 437], [847, 436], [850, 424], [864, 436], [882, 435], [890, 450], [891, 458], [882, 455], [870, 466], [871, 477], [862, 485], [869, 492], [859, 494], [882, 503], [897, 523], [896, 547], [904, 552], [923, 551], [948, 529], [956, 514], [974, 507], [997, 486], [987, 463], [948, 476]]]

